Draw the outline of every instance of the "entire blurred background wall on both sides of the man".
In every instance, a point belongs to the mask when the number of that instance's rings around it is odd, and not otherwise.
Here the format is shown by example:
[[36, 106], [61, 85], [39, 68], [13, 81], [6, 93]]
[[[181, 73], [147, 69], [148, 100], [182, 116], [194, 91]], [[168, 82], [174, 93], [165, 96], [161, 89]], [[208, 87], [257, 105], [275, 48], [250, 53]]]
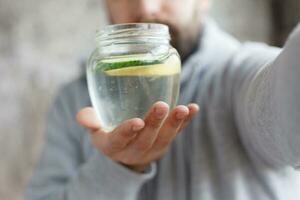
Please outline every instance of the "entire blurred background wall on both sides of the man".
[[[101, 0], [0, 0], [0, 199], [23, 199], [59, 87], [79, 76], [106, 23]], [[299, 0], [214, 0], [211, 16], [242, 41], [281, 46]]]

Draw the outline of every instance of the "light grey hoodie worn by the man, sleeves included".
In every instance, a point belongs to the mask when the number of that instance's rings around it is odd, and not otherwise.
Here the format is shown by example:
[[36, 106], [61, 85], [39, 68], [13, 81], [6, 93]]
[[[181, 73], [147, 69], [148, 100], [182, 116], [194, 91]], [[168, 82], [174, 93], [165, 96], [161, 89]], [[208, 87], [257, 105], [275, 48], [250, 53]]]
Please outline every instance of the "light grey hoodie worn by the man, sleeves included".
[[[27, 200], [296, 200], [300, 198], [300, 27], [286, 47], [241, 44], [206, 25], [184, 64], [180, 104], [201, 112], [145, 174], [90, 145], [74, 116], [85, 79], [61, 90]], [[276, 58], [277, 57], [277, 58]]]

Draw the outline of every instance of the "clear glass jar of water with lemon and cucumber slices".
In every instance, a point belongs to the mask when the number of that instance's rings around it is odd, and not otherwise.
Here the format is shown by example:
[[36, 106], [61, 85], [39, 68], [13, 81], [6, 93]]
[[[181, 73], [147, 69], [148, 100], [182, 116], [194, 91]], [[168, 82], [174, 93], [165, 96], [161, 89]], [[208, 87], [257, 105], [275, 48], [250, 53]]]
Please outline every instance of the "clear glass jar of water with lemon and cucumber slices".
[[96, 42], [86, 70], [92, 105], [104, 130], [127, 119], [143, 119], [157, 101], [176, 105], [181, 62], [166, 25], [109, 25], [97, 33]]

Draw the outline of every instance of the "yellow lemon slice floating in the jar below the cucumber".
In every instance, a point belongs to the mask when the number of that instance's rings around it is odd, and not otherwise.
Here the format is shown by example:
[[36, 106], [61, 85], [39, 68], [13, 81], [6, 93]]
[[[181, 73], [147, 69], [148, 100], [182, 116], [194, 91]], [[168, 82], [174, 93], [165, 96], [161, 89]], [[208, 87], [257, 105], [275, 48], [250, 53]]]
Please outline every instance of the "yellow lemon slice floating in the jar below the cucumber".
[[165, 76], [180, 73], [180, 60], [177, 56], [170, 56], [162, 64], [132, 66], [105, 71], [110, 76]]

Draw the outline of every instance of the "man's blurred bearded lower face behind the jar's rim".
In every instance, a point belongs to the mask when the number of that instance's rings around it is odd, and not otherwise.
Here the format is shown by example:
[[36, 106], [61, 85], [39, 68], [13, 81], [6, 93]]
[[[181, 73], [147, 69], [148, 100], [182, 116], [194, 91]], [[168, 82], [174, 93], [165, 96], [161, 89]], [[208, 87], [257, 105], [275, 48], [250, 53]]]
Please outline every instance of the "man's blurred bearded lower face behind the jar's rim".
[[162, 23], [170, 28], [172, 44], [182, 50], [200, 31], [209, 0], [106, 0], [110, 22]]

